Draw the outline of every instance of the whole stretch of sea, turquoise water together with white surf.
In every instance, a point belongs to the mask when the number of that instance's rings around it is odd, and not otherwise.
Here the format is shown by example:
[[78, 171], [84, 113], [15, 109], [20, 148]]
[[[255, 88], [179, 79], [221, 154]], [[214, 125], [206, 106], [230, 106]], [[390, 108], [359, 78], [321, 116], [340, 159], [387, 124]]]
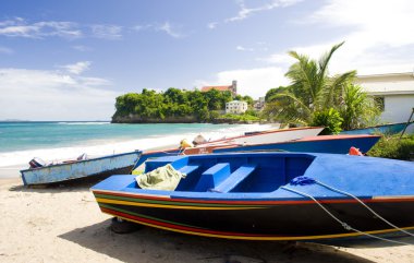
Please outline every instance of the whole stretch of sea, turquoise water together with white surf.
[[[113, 124], [109, 122], [0, 122], [0, 169], [28, 167], [39, 157], [46, 162], [75, 158], [83, 153], [102, 156], [134, 150], [179, 146], [197, 134], [207, 140], [270, 129], [265, 124]], [[0, 177], [1, 177], [0, 172]]]

